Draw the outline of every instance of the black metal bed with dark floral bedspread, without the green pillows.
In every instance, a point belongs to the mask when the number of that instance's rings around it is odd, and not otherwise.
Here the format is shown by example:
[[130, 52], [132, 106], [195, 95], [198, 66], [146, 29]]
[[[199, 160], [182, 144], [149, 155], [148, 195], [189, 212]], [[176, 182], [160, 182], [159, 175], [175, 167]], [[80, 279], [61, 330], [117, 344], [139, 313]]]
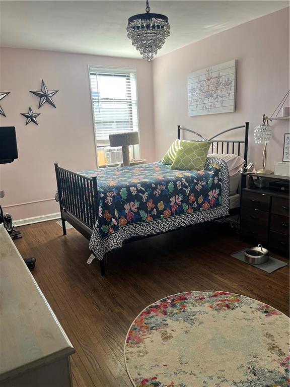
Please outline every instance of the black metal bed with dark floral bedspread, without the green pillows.
[[[219, 139], [239, 129], [244, 130], [243, 140]], [[229, 169], [217, 154], [237, 154], [247, 161], [249, 123], [208, 140], [181, 126], [177, 132], [178, 139], [188, 132], [199, 141], [211, 141], [212, 156], [204, 170], [173, 170], [156, 162], [76, 173], [54, 164], [63, 234], [66, 220], [90, 240], [102, 275], [104, 256], [124, 242], [239, 212], [240, 196], [230, 196]], [[243, 176], [240, 182], [243, 187]]]

